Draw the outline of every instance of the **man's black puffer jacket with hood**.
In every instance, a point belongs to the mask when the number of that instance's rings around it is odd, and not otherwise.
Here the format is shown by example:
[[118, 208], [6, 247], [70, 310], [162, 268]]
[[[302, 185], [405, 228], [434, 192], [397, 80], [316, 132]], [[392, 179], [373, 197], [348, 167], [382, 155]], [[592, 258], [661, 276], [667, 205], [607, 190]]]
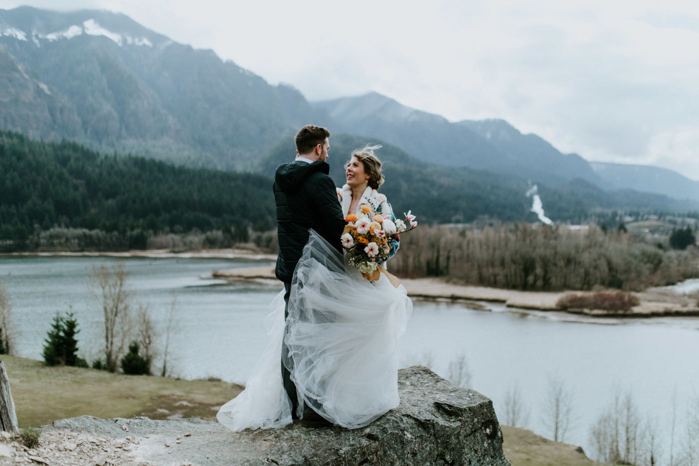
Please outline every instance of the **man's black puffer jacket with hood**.
[[274, 198], [279, 257], [275, 273], [285, 283], [291, 283], [294, 277], [310, 228], [341, 250], [345, 218], [329, 171], [329, 164], [320, 160], [312, 164], [300, 160], [277, 167]]

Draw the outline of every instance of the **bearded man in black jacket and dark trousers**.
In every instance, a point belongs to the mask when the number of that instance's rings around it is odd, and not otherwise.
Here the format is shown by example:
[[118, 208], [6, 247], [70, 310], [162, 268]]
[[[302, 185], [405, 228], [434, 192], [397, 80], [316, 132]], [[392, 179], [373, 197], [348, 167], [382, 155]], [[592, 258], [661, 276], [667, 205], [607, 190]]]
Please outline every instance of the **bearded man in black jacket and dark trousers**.
[[[289, 316], [291, 280], [303, 246], [308, 241], [308, 230], [312, 228], [338, 251], [341, 250], [340, 234], [345, 228], [345, 218], [335, 183], [328, 176], [329, 137], [330, 132], [323, 127], [306, 125], [301, 128], [296, 134], [296, 160], [277, 167], [274, 176], [279, 239], [275, 274], [284, 282], [284, 318]], [[282, 381], [291, 400], [291, 416], [295, 418], [298, 406], [296, 386], [283, 362], [288, 353], [287, 345], [282, 344]], [[332, 425], [306, 404], [301, 423], [306, 427]]]

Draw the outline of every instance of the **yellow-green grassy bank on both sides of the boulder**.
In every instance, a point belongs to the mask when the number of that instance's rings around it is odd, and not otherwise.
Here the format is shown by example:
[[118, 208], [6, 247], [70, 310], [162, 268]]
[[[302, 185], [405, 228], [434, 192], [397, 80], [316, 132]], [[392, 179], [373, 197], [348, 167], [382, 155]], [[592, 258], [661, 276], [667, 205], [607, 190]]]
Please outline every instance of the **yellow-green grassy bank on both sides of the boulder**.
[[[89, 415], [99, 418], [148, 416], [215, 420], [218, 408], [242, 387], [219, 381], [127, 376], [77, 367], [46, 367], [41, 361], [3, 355], [20, 427]], [[505, 455], [512, 466], [603, 465], [532, 432], [502, 426]]]

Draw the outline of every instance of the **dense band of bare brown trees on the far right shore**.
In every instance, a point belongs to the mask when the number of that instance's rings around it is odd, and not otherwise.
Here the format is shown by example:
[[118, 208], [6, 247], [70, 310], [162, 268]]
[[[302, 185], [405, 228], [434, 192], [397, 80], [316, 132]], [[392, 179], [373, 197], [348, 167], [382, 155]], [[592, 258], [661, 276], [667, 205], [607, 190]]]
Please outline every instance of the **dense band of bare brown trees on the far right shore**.
[[622, 231], [565, 225], [499, 224], [419, 227], [401, 236], [389, 262], [400, 276], [447, 276], [519, 290], [637, 291], [699, 276], [695, 248], [663, 250]]

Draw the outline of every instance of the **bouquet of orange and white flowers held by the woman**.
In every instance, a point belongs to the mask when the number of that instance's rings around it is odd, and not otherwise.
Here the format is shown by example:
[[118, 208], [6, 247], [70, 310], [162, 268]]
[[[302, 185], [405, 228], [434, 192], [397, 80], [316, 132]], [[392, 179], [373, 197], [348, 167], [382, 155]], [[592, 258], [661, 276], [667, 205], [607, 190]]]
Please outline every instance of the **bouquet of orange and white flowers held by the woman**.
[[389, 239], [398, 239], [399, 234], [417, 227], [415, 216], [410, 211], [404, 215], [405, 220], [392, 220], [390, 214], [383, 216], [366, 204], [361, 205], [360, 213], [347, 214], [347, 226], [340, 241], [350, 254], [349, 264], [363, 274], [373, 274], [378, 265], [389, 258]]

